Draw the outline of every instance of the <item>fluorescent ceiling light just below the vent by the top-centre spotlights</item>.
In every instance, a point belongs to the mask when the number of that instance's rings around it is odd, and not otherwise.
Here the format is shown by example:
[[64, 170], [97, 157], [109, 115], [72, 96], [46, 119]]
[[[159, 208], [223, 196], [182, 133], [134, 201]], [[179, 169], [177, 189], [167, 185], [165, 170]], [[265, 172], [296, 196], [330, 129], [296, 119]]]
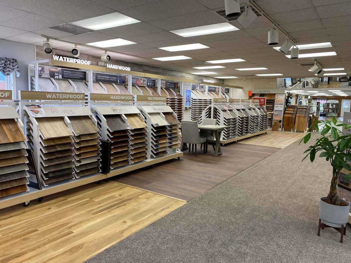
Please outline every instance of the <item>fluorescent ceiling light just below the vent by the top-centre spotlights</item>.
[[208, 35], [208, 34], [215, 34], [215, 33], [223, 33], [223, 32], [229, 32], [234, 30], [239, 30], [239, 28], [234, 27], [230, 23], [224, 22], [224, 23], [207, 25], [207, 26], [172, 30], [170, 32], [173, 34], [187, 37], [187, 36], [200, 36], [200, 35]]

